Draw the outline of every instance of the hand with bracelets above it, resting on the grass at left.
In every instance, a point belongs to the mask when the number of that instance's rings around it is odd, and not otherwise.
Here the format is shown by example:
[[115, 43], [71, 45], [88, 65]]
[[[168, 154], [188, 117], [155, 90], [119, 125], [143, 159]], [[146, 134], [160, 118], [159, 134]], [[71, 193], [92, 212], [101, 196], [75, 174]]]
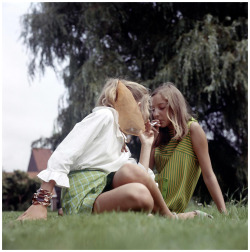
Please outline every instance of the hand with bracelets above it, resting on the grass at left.
[[47, 207], [43, 205], [31, 205], [17, 220], [47, 220]]

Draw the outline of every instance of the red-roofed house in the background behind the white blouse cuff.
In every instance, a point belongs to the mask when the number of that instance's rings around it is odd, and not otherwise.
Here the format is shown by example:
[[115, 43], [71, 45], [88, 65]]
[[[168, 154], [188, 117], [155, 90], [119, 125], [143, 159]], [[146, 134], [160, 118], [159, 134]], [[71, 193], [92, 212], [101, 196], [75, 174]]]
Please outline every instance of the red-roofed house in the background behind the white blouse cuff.
[[[47, 168], [47, 163], [52, 155], [52, 150], [44, 148], [33, 148], [31, 151], [29, 166], [28, 166], [28, 176], [30, 178], [35, 178], [37, 174]], [[51, 200], [51, 210], [57, 210], [57, 193], [55, 188], [53, 189], [53, 197]]]

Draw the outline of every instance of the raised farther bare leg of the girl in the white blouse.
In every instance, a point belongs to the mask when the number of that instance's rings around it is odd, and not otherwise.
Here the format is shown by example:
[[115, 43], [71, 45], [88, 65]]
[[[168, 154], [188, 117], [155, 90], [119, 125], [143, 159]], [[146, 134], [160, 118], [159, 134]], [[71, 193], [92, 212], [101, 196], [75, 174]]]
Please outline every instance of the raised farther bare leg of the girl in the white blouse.
[[154, 200], [154, 213], [159, 213], [163, 216], [169, 217], [173, 216], [168, 209], [156, 183], [144, 170], [137, 165], [126, 164], [121, 167], [114, 176], [113, 187], [118, 188], [119, 186], [134, 182], [143, 184], [149, 190]]

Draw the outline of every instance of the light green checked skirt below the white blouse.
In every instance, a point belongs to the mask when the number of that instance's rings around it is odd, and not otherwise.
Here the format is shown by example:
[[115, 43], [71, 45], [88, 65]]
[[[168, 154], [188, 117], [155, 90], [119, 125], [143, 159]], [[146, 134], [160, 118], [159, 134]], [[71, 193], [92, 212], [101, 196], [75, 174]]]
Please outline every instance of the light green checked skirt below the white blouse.
[[70, 188], [63, 188], [61, 203], [65, 214], [92, 213], [96, 198], [107, 182], [107, 173], [96, 170], [70, 172]]

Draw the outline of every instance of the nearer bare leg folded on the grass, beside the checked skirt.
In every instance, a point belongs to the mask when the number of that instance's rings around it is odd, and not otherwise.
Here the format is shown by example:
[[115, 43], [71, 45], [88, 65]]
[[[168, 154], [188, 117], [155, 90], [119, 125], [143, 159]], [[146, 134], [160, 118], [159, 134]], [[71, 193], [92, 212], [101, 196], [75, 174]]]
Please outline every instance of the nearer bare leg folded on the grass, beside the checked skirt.
[[93, 212], [151, 212], [153, 206], [154, 201], [148, 189], [142, 184], [130, 183], [100, 194], [94, 203]]

